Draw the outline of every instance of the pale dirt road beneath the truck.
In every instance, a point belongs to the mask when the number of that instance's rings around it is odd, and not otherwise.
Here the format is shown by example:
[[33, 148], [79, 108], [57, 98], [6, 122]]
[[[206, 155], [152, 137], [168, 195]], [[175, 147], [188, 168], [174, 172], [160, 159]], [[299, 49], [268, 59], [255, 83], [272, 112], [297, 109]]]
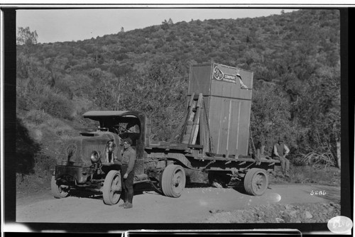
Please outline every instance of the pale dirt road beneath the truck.
[[[107, 206], [102, 196], [55, 199], [44, 193], [17, 199], [16, 221], [56, 223], [200, 223], [216, 211], [243, 209], [262, 204], [302, 204], [337, 202], [339, 187], [311, 185], [271, 185], [261, 197], [240, 190], [214, 187], [185, 188], [178, 199], [164, 197], [153, 190], [139, 190], [133, 209]], [[146, 189], [147, 190], [147, 189]], [[313, 192], [312, 192], [313, 191]], [[322, 195], [315, 194], [322, 191]], [[325, 191], [325, 195], [323, 195]], [[313, 195], [312, 195], [313, 194]], [[121, 204], [122, 201], [119, 202]]]

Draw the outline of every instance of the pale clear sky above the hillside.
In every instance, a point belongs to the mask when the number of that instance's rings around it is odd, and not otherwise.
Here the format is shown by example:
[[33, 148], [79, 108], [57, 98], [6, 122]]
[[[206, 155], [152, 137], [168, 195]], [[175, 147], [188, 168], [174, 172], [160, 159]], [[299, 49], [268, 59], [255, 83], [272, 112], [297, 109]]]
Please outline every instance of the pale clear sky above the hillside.
[[103, 35], [193, 20], [254, 18], [297, 9], [28, 9], [16, 11], [16, 26], [36, 31], [38, 43], [86, 40]]

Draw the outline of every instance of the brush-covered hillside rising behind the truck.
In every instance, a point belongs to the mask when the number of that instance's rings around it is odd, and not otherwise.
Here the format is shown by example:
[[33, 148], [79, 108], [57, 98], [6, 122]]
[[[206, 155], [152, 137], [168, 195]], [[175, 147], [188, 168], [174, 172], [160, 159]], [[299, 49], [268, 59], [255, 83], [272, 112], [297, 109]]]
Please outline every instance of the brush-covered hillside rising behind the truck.
[[189, 67], [202, 62], [254, 73], [253, 146], [269, 153], [283, 136], [294, 165], [338, 165], [337, 10], [163, 21], [77, 42], [40, 44], [27, 30], [17, 45], [18, 174], [47, 175], [63, 140], [97, 126], [81, 117], [89, 110], [144, 111], [152, 139], [168, 140], [185, 113]]

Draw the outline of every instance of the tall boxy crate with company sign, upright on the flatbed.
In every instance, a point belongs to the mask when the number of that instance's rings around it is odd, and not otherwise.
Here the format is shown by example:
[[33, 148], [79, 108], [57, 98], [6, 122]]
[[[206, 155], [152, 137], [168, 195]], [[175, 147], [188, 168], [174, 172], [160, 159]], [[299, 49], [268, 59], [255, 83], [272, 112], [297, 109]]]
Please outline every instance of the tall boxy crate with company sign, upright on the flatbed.
[[217, 63], [191, 67], [188, 96], [203, 94], [207, 152], [248, 154], [252, 88], [253, 72]]

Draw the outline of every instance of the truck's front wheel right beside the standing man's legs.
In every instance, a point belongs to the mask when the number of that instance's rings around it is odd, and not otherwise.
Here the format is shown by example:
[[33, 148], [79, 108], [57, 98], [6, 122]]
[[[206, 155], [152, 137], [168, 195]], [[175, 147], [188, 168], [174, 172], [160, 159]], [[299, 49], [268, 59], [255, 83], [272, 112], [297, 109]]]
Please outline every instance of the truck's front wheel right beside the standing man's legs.
[[102, 196], [104, 196], [104, 204], [114, 205], [119, 202], [121, 195], [121, 172], [117, 170], [110, 170], [106, 175], [104, 181], [104, 189]]

